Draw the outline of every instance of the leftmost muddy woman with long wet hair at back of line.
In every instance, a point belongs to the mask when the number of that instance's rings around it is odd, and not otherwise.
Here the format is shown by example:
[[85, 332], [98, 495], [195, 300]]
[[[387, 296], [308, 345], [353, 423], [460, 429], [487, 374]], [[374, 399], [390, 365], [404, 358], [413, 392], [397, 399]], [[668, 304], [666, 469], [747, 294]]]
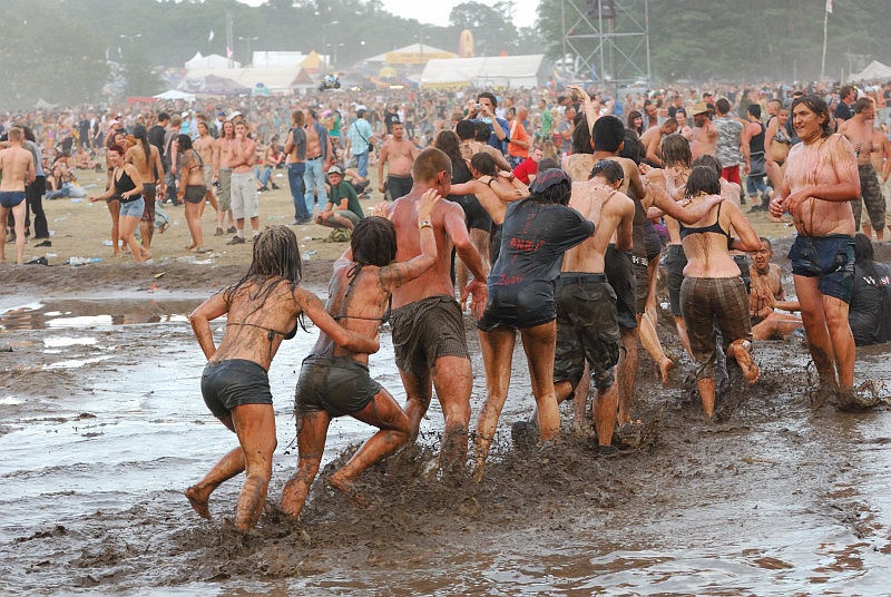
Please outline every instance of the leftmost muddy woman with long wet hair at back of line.
[[[210, 412], [238, 435], [235, 448], [185, 495], [203, 518], [210, 518], [210, 493], [226, 479], [246, 472], [235, 526], [253, 528], [266, 499], [275, 450], [275, 413], [267, 371], [283, 340], [294, 337], [305, 314], [329, 342], [358, 353], [378, 351], [376, 334], [358, 334], [337, 325], [313, 293], [297, 286], [301, 258], [291, 228], [272, 226], [254, 241], [247, 274], [213, 295], [189, 315], [195, 337], [207, 356], [202, 394]], [[214, 344], [210, 321], [226, 315], [226, 333]]]

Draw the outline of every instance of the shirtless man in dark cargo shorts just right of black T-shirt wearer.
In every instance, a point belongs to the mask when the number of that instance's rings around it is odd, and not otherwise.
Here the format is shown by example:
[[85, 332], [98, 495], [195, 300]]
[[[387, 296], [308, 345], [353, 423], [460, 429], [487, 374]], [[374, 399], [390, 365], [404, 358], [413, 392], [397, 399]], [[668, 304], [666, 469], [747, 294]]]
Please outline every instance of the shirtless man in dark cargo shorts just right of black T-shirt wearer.
[[[604, 273], [604, 255], [610, 243], [617, 251], [631, 249], [634, 202], [618, 188], [624, 172], [616, 162], [595, 164], [591, 178], [572, 183], [569, 207], [594, 222], [595, 234], [564, 254], [557, 283], [557, 350], [554, 390], [559, 404], [571, 397], [581, 380], [585, 361], [597, 388], [594, 422], [597, 443], [611, 446], [618, 411], [614, 368], [619, 359], [619, 325], [616, 293]], [[577, 430], [585, 420], [587, 400], [576, 400]]]

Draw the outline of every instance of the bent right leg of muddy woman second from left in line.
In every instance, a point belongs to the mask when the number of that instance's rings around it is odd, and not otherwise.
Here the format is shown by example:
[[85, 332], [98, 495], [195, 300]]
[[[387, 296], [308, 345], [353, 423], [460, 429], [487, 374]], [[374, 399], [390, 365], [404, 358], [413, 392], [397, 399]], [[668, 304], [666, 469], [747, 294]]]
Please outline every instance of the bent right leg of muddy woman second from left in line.
[[[409, 442], [411, 423], [392, 394], [384, 389], [364, 409], [352, 414], [363, 423], [380, 429], [353, 454], [346, 464], [331, 476], [329, 485], [360, 505], [365, 500], [354, 488], [355, 478], [375, 462], [380, 462]], [[464, 442], [467, 443], [467, 441]]]

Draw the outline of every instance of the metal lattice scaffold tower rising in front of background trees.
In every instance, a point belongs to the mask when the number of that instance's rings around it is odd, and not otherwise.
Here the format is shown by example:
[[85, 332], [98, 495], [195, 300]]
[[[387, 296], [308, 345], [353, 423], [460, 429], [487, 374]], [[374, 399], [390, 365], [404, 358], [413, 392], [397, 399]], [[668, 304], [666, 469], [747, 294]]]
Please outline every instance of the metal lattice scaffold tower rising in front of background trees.
[[649, 81], [649, 0], [560, 0], [564, 61], [609, 87]]

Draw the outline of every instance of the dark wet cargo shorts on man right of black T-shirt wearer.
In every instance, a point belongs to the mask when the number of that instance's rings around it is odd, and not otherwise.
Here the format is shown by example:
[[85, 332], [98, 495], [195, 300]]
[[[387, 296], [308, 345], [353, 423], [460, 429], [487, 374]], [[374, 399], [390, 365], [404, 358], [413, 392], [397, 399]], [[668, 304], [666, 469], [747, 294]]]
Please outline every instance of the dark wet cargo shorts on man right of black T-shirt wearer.
[[619, 360], [619, 324], [616, 293], [606, 274], [567, 273], [557, 282], [557, 346], [554, 382], [568, 381], [575, 389], [591, 368], [598, 390], [613, 386]]

